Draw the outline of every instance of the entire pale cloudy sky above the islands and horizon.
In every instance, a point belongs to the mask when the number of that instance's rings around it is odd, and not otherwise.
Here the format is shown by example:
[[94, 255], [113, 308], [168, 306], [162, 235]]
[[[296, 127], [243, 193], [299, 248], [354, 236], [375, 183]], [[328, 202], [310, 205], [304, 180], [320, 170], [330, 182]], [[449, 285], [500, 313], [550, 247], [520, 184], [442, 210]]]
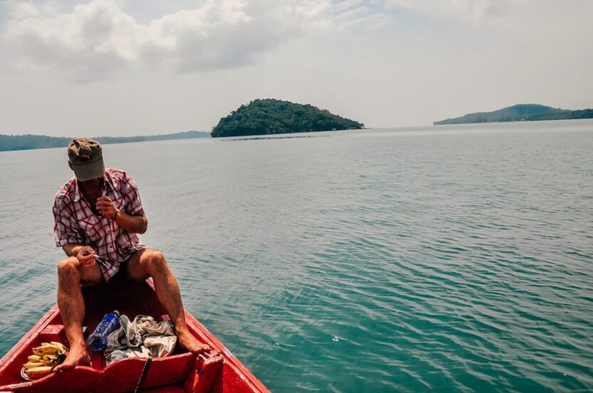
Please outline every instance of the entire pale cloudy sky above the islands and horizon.
[[593, 0], [0, 0], [0, 134], [211, 131], [285, 99], [367, 127], [593, 108]]

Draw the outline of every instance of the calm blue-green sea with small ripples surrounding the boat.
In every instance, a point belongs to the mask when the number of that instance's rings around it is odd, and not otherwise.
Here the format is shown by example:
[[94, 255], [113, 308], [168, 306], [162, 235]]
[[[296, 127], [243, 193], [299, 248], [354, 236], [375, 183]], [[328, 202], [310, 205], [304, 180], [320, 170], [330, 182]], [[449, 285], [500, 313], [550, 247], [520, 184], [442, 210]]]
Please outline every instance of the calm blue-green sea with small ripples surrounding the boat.
[[[273, 392], [593, 392], [593, 122], [105, 145]], [[0, 153], [0, 355], [56, 301], [65, 149]]]

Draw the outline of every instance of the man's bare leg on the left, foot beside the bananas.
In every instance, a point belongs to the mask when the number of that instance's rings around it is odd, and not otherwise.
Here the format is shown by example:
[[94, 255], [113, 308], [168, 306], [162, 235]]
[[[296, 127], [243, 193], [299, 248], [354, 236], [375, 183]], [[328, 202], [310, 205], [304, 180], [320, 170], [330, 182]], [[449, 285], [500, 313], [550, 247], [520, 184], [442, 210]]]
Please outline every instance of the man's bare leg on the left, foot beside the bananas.
[[70, 344], [70, 352], [64, 362], [53, 369], [54, 372], [90, 364], [83, 338], [85, 301], [80, 284], [97, 284], [99, 281], [101, 271], [98, 264], [86, 268], [80, 265], [76, 257], [64, 259], [58, 264], [58, 307]]

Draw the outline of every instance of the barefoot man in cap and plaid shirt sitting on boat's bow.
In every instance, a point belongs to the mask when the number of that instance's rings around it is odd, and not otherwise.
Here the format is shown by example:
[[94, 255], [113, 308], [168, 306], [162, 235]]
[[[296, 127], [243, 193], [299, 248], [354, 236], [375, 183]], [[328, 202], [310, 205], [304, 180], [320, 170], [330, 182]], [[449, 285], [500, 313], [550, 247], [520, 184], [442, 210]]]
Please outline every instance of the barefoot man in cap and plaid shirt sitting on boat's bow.
[[58, 306], [70, 352], [55, 371], [90, 363], [83, 338], [85, 304], [80, 286], [122, 278], [152, 276], [179, 344], [194, 353], [208, 350], [208, 345], [189, 332], [179, 285], [163, 254], [146, 248], [136, 235], [146, 232], [148, 220], [132, 177], [119, 169], [105, 169], [101, 146], [90, 138], [70, 143], [68, 165], [75, 177], [58, 190], [53, 215], [56, 244], [68, 255], [58, 264]]

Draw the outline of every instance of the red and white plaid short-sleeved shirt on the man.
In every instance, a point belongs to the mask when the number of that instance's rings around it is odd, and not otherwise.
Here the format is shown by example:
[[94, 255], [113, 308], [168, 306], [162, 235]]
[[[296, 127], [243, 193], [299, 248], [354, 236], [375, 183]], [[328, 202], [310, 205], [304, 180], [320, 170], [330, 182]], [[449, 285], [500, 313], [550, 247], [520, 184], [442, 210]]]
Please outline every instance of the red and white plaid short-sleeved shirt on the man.
[[[105, 169], [101, 195], [109, 197], [115, 208], [129, 215], [142, 209], [134, 179], [119, 169]], [[146, 248], [135, 233], [127, 232], [107, 217], [95, 215], [75, 177], [58, 190], [53, 217], [56, 246], [84, 244], [93, 247], [98, 255], [95, 259], [107, 281], [120, 269], [121, 262], [137, 250]]]

